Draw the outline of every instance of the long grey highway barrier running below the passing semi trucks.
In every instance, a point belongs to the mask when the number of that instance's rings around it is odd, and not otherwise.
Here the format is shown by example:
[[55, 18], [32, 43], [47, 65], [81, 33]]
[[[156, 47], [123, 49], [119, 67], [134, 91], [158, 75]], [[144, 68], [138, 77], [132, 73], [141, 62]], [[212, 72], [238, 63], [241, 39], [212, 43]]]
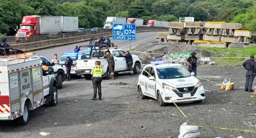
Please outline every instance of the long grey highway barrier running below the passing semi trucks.
[[[146, 27], [146, 26], [139, 26], [136, 29], [164, 29], [160, 27]], [[97, 32], [92, 32], [91, 29], [85, 29], [84, 32], [64, 32], [64, 33], [58, 33], [58, 34], [45, 34], [45, 35], [35, 35], [28, 38], [27, 41], [19, 41], [17, 42], [14, 36], [6, 37], [8, 44], [17, 44], [17, 43], [30, 43], [30, 42], [36, 42], [36, 41], [42, 41], [42, 40], [52, 40], [57, 38], [68, 38], [68, 37], [77, 37], [77, 36], [83, 36], [83, 35], [91, 35], [91, 34], [102, 34], [104, 32], [111, 32], [112, 29], [104, 29], [99, 28]], [[1, 39], [1, 37], [0, 37]]]

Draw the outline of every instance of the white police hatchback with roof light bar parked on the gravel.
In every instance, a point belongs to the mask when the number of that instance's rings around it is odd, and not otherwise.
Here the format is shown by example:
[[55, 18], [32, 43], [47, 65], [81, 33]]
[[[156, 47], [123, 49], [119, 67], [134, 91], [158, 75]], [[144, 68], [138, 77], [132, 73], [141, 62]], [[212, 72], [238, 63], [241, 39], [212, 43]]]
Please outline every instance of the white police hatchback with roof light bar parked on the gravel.
[[151, 62], [143, 68], [137, 89], [141, 99], [152, 97], [165, 103], [192, 103], [205, 99], [205, 90], [194, 73], [181, 64]]

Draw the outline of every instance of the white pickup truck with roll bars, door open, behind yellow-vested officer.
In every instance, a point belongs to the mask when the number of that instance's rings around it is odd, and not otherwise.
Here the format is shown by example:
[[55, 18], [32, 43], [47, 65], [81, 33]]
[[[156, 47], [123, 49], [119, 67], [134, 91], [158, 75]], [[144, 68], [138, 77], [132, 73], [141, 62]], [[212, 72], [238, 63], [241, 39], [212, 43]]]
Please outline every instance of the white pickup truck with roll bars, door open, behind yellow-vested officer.
[[[86, 46], [83, 46], [86, 47]], [[95, 67], [95, 61], [101, 61], [101, 67], [104, 72], [104, 76], [108, 77], [110, 72], [108, 70], [108, 62], [107, 59], [102, 56], [105, 55], [107, 50], [110, 50], [110, 53], [114, 56], [114, 72], [118, 73], [121, 71], [128, 71], [128, 67], [125, 61], [125, 58], [122, 55], [125, 55], [125, 50], [117, 49], [117, 48], [109, 48], [109, 49], [97, 49], [92, 47], [90, 57], [87, 59], [79, 59], [76, 61], [76, 74], [83, 74], [85, 79], [91, 79], [92, 75], [90, 74], [93, 67]], [[96, 49], [96, 50], [95, 50]], [[139, 56], [133, 56], [133, 71], [134, 74], [139, 74], [140, 67], [142, 65], [142, 61], [140, 61]]]

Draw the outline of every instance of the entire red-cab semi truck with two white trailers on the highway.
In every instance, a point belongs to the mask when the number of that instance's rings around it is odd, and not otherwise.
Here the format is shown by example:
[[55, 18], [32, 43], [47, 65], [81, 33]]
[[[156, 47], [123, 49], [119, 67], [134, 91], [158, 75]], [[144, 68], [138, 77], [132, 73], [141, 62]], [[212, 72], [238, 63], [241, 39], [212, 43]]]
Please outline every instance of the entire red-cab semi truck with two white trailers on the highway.
[[24, 16], [15, 38], [16, 41], [27, 41], [34, 35], [75, 31], [78, 31], [78, 17]]

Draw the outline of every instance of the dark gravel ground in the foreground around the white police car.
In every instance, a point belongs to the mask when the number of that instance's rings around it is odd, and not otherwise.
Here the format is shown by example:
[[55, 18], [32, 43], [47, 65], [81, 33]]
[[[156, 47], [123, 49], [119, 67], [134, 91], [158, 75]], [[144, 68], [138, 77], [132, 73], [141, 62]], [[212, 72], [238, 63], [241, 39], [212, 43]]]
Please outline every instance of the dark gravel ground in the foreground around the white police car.
[[[178, 104], [189, 125], [256, 130], [252, 113], [255, 98], [244, 93], [244, 70], [229, 67], [198, 67], [198, 77], [221, 83], [225, 77], [235, 82], [235, 90], [225, 92], [216, 83], [201, 79], [206, 90], [202, 103]], [[119, 74], [116, 80], [103, 80], [102, 101], [90, 100], [92, 81], [65, 82], [55, 107], [43, 106], [30, 112], [28, 125], [0, 122], [0, 137], [178, 137], [186, 119], [173, 105], [160, 107], [151, 98], [140, 100], [136, 89], [138, 75]], [[120, 83], [122, 82], [122, 83]], [[123, 83], [126, 83], [123, 84]], [[200, 128], [200, 137], [256, 137], [255, 133]]]

